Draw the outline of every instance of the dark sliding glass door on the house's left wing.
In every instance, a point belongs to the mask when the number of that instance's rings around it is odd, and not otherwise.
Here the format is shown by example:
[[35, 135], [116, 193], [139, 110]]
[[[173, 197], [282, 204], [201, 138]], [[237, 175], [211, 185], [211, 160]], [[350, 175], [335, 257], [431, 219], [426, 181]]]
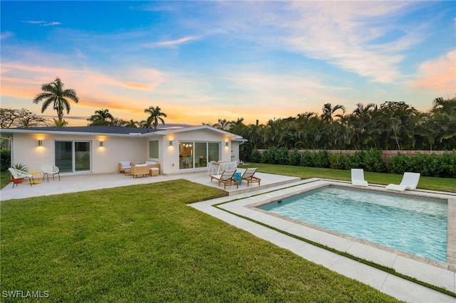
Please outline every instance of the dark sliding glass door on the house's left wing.
[[90, 142], [56, 141], [54, 153], [61, 172], [90, 171]]

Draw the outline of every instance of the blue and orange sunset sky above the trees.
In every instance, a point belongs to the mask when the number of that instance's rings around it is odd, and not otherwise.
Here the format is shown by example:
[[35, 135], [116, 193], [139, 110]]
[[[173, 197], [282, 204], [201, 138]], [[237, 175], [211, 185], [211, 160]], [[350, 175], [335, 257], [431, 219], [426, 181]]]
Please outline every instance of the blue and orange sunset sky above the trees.
[[166, 124], [245, 124], [325, 103], [456, 94], [455, 1], [0, 1], [1, 107], [56, 117], [33, 98], [61, 78], [95, 110]]

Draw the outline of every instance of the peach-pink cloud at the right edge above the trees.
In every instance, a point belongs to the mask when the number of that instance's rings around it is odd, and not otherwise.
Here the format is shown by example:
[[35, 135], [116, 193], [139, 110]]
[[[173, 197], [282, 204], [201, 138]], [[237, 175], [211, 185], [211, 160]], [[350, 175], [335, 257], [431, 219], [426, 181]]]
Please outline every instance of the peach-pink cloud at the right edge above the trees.
[[418, 79], [410, 83], [415, 90], [433, 90], [438, 95], [456, 92], [456, 50], [420, 64]]

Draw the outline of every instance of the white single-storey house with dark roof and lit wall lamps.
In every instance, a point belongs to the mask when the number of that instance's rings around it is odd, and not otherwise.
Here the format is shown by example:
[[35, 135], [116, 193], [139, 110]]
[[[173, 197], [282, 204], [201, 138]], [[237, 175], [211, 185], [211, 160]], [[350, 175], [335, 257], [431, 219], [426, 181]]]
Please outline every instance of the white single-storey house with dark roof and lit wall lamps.
[[201, 125], [177, 129], [134, 127], [28, 127], [1, 129], [11, 136], [12, 164], [39, 171], [54, 164], [62, 174], [108, 174], [120, 161], [160, 164], [160, 174], [203, 171], [209, 161], [238, 161], [246, 139]]

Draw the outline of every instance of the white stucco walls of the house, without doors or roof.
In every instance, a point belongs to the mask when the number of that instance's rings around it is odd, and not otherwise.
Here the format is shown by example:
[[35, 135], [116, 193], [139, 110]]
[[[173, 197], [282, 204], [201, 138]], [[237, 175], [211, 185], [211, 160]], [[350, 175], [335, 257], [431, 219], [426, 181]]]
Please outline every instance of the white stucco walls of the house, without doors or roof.
[[[220, 147], [220, 161], [239, 160], [239, 142], [232, 142], [233, 135], [211, 128], [176, 129], [165, 132], [154, 132], [142, 136], [113, 136], [96, 134], [33, 134], [15, 132], [11, 149], [13, 164], [22, 163], [29, 171], [39, 171], [43, 164], [54, 164], [55, 141], [90, 142], [91, 171], [74, 174], [107, 174], [118, 171], [120, 161], [132, 161], [134, 164], [146, 160], [160, 163], [160, 174], [177, 174], [182, 172], [205, 171], [205, 167], [180, 169], [180, 142], [217, 142]], [[38, 147], [38, 140], [42, 146]], [[149, 158], [149, 142], [159, 142], [158, 158]], [[170, 144], [172, 141], [172, 145]], [[103, 147], [100, 147], [103, 142]], [[66, 173], [73, 174], [73, 173]]]

